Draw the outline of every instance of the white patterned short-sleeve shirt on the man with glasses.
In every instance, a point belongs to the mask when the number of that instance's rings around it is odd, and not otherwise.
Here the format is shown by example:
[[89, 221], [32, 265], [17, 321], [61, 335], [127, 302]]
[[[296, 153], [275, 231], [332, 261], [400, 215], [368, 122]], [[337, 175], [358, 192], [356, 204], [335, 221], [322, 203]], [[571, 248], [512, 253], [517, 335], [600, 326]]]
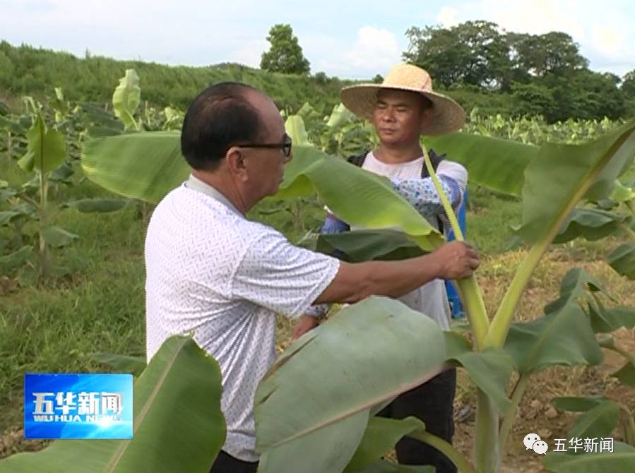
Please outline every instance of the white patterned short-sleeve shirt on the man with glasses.
[[146, 236], [148, 361], [167, 337], [187, 333], [218, 361], [223, 450], [230, 455], [258, 460], [254, 395], [275, 358], [275, 315], [304, 313], [339, 264], [186, 184], [153, 212]]

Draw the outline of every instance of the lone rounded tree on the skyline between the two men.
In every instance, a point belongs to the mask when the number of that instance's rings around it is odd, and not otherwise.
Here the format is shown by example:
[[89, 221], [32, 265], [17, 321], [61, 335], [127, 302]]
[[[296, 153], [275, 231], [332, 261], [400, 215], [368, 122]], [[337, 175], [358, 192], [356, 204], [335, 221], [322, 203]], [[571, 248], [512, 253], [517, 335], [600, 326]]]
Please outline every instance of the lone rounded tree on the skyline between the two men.
[[309, 73], [309, 60], [302, 54], [302, 47], [293, 35], [291, 25], [273, 25], [267, 41], [271, 43], [271, 47], [261, 56], [261, 69], [285, 74]]

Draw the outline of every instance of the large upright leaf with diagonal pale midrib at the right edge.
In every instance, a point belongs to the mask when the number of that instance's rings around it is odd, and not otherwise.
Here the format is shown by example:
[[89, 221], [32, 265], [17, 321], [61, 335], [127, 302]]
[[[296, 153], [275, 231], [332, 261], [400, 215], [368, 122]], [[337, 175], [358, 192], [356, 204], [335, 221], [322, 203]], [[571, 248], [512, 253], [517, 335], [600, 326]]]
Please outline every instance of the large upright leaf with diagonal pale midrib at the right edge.
[[542, 145], [525, 169], [523, 238], [551, 241], [583, 196], [610, 195], [635, 156], [635, 119], [585, 145]]

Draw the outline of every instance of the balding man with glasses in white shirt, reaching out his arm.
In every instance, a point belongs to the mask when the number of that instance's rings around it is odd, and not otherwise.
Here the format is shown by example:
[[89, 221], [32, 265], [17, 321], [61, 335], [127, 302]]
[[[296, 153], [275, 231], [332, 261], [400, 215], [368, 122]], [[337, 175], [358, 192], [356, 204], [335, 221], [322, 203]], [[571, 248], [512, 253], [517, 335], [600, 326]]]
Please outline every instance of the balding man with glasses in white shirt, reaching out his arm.
[[278, 191], [292, 158], [275, 104], [247, 85], [201, 92], [186, 113], [181, 146], [194, 170], [159, 203], [146, 236], [147, 357], [170, 335], [194, 333], [222, 372], [227, 439], [210, 471], [255, 472], [252, 408], [274, 360], [277, 313], [399, 297], [437, 277], [471, 275], [479, 259], [453, 242], [405, 261], [340, 263], [247, 220], [249, 209]]

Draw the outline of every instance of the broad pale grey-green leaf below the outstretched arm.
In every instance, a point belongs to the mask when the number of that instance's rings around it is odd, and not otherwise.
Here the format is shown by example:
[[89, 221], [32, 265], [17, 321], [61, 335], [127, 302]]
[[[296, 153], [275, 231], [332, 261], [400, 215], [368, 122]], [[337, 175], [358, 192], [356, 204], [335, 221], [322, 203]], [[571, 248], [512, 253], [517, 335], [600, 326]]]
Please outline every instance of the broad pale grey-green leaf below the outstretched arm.
[[[369, 297], [345, 307], [287, 348], [261, 381], [256, 449], [304, 455], [304, 436], [424, 383], [439, 373], [444, 354], [439, 325], [399, 301]], [[355, 451], [340, 447], [314, 445], [348, 458]], [[311, 471], [328, 471], [320, 467]]]

